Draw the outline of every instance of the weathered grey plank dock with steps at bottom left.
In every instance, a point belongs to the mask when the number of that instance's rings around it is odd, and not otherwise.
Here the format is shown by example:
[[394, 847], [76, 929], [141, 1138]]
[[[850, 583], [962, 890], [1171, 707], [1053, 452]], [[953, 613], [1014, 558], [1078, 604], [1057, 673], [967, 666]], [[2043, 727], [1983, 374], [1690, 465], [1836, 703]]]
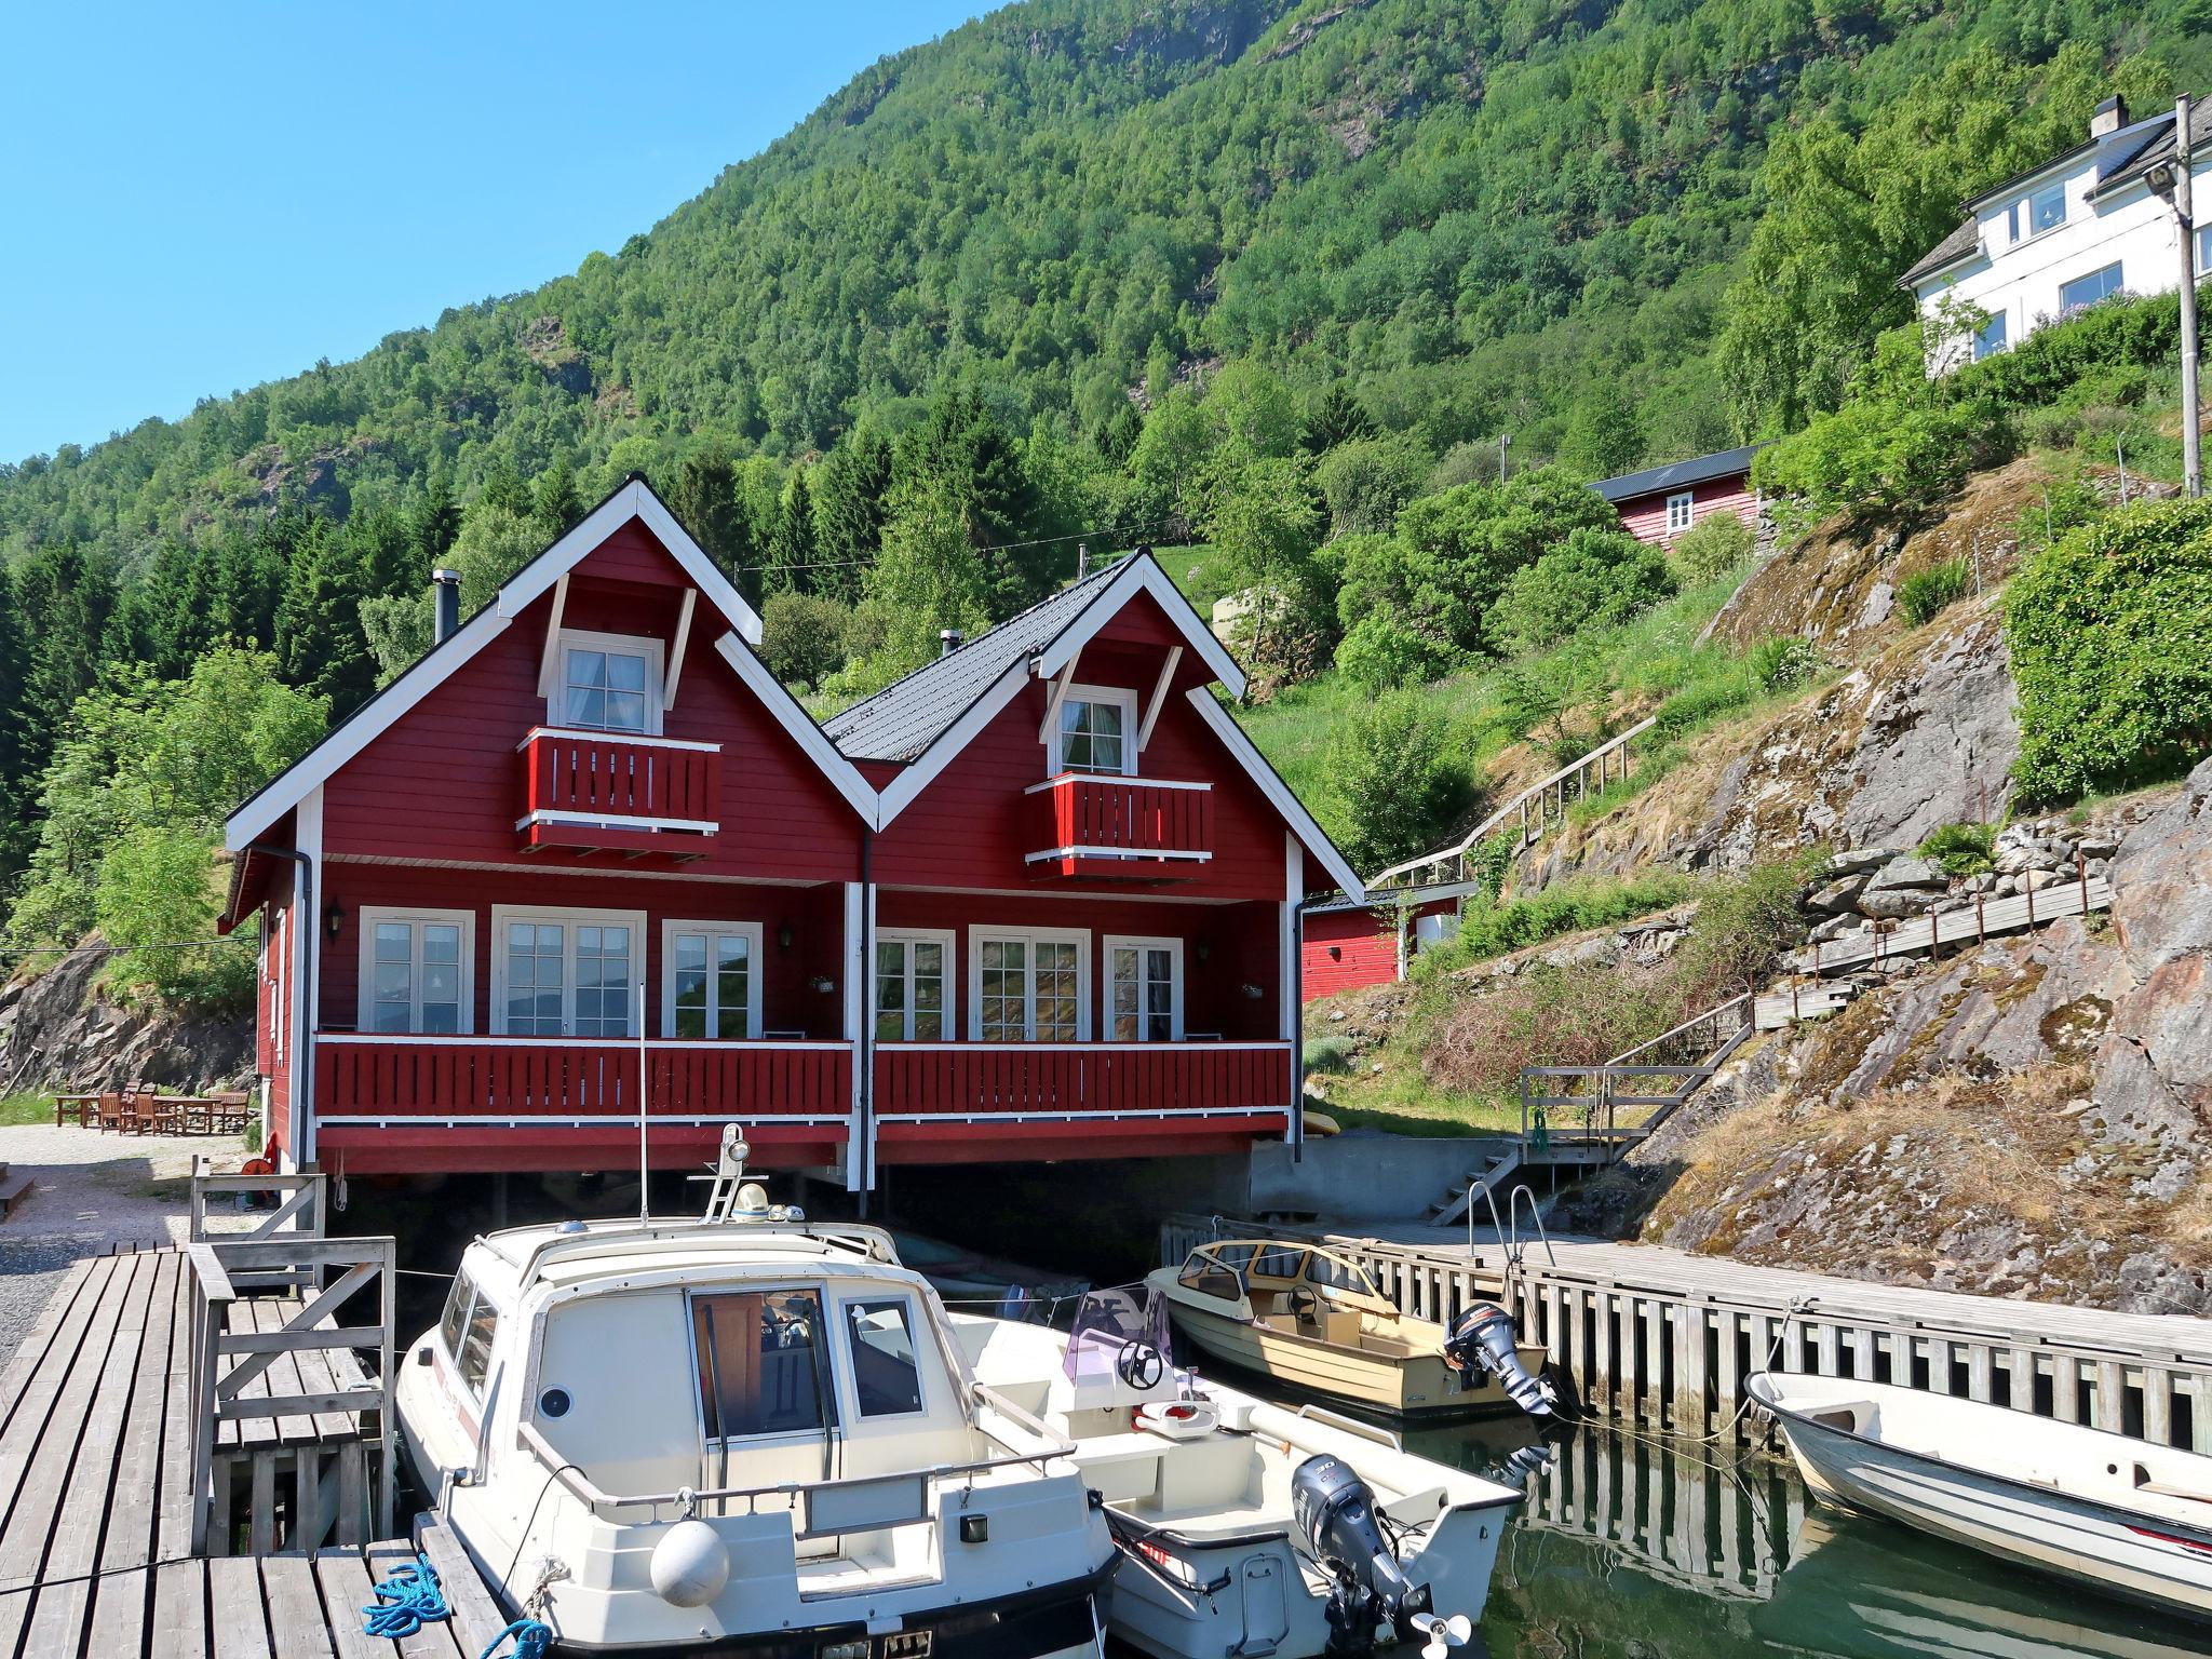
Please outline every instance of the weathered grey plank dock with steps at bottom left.
[[[314, 1409], [358, 1391], [358, 1367], [347, 1371], [330, 1349], [268, 1345], [303, 1312], [296, 1294], [241, 1296], [226, 1307], [226, 1340], [274, 1352], [237, 1387], [237, 1400], [283, 1409], [259, 1416], [241, 1407], [215, 1420], [201, 1467], [212, 1484], [226, 1458], [243, 1460], [248, 1495], [261, 1489], [272, 1500], [237, 1511], [239, 1531], [217, 1542], [252, 1548], [290, 1535], [323, 1546], [195, 1555], [197, 1294], [184, 1250], [80, 1261], [0, 1376], [0, 1659], [476, 1659], [504, 1617], [436, 1524], [422, 1531], [422, 1546], [456, 1617], [405, 1646], [361, 1635], [372, 1582], [414, 1559], [414, 1546], [367, 1542], [372, 1480], [361, 1413]], [[279, 1469], [307, 1471], [290, 1506], [274, 1502]], [[301, 1515], [301, 1506], [312, 1513]], [[261, 1540], [252, 1535], [259, 1526], [268, 1528]]]

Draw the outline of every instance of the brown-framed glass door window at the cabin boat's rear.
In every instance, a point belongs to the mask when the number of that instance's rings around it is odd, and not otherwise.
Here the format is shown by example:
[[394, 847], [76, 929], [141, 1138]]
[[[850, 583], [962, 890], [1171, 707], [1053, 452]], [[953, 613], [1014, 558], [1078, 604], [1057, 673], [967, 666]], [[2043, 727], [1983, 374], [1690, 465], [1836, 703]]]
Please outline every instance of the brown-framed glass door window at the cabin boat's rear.
[[812, 1290], [692, 1296], [692, 1340], [710, 1440], [821, 1433], [834, 1420], [823, 1303]]

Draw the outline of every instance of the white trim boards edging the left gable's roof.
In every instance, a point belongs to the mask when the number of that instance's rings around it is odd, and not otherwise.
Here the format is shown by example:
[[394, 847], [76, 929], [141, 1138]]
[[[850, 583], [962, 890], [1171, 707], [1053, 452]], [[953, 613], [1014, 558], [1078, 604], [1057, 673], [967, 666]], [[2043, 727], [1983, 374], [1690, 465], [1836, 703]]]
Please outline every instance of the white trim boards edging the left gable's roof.
[[[606, 500], [584, 513], [584, 518], [580, 518], [544, 553], [515, 571], [500, 586], [491, 604], [431, 646], [414, 661], [414, 666], [407, 668], [407, 672], [338, 721], [323, 737], [323, 741], [307, 750], [299, 761], [241, 801], [223, 825], [223, 845], [239, 852], [257, 836], [265, 834], [285, 812], [296, 807], [310, 792], [332, 779], [338, 768], [361, 754], [369, 743], [392, 730], [403, 714], [429, 697], [429, 692], [451, 679], [451, 675], [476, 657], [478, 650], [507, 633], [509, 624], [520, 617], [533, 599], [553, 588], [555, 582], [568, 575], [568, 571], [582, 564], [593, 549], [606, 542], [606, 538], [630, 520], [637, 520], [653, 531], [655, 540], [668, 549], [668, 555], [684, 568], [684, 575], [690, 577], [701, 597], [721, 613], [723, 622], [728, 622], [730, 630], [721, 641], [721, 655], [730, 657], [734, 664], [734, 646], [745, 659], [759, 666], [759, 659], [752, 657], [752, 646], [761, 639], [759, 613], [745, 604], [745, 597], [730, 586], [730, 580], [719, 568], [714, 568], [714, 562], [706, 555], [699, 542], [692, 540], [690, 531], [677, 522], [675, 513], [668, 511], [668, 504], [653, 493], [653, 487], [633, 473], [617, 484]], [[759, 675], [748, 675], [743, 670], [741, 675], [754, 692], [759, 692], [761, 703], [776, 719], [776, 723], [783, 726], [803, 750], [807, 750], [816, 765], [821, 765], [823, 776], [827, 776], [836, 792], [845, 796], [852, 810], [865, 821], [874, 821], [876, 792], [867, 785], [867, 779], [860, 776], [858, 768], [823, 741], [821, 728], [814, 726], [812, 717], [799, 706], [799, 699], [794, 699], [765, 668]]]

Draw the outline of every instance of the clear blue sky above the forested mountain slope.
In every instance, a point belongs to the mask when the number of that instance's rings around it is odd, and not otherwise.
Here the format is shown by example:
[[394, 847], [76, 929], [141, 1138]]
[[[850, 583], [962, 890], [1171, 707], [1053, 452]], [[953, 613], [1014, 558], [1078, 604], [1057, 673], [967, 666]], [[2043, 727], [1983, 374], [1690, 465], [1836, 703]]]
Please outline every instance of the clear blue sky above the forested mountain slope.
[[0, 53], [0, 460], [613, 252], [987, 0], [40, 4]]

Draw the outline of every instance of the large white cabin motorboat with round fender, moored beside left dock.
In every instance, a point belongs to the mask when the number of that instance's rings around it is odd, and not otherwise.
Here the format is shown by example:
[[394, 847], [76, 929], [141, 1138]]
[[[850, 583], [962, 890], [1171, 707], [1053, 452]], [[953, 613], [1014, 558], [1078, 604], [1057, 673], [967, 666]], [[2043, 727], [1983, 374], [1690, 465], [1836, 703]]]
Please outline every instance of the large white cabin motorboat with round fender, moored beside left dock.
[[469, 1245], [398, 1420], [562, 1650], [1095, 1659], [1115, 1562], [1073, 1447], [969, 1369], [874, 1228], [739, 1183], [708, 1219]]

